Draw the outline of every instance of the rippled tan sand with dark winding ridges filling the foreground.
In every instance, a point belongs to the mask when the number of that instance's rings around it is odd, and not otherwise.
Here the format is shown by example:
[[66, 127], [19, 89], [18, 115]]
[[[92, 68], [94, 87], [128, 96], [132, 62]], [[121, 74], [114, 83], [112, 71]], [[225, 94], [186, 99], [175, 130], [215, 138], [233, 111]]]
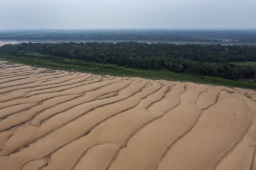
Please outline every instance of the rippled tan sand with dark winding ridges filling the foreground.
[[0, 61], [0, 169], [256, 169], [256, 91]]

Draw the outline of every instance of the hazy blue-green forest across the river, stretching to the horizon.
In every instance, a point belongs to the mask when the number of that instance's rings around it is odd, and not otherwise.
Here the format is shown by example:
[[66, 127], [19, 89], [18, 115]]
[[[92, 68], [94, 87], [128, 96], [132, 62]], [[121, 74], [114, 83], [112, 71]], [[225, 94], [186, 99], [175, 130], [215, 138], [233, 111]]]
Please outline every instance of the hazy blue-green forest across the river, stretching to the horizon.
[[1, 40], [256, 43], [256, 30], [0, 30]]

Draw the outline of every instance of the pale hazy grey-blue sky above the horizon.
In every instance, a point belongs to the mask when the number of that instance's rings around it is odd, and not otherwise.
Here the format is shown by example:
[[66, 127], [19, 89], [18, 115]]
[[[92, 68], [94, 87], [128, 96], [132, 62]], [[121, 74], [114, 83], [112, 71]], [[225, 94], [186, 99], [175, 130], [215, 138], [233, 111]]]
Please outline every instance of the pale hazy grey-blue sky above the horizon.
[[256, 29], [256, 0], [0, 0], [0, 29]]

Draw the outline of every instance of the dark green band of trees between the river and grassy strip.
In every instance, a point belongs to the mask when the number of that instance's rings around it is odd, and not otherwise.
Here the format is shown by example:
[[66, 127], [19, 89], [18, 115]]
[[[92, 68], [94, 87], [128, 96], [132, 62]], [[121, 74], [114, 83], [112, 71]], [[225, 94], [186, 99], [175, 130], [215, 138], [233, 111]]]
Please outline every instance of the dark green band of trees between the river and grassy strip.
[[[232, 62], [255, 61], [256, 46], [174, 45], [119, 43], [22, 43], [0, 47], [2, 53], [20, 57], [31, 52], [73, 60], [116, 64], [136, 69], [168, 69], [195, 75], [212, 75], [233, 80], [255, 80], [256, 67]], [[40, 56], [38, 56], [40, 57]]]

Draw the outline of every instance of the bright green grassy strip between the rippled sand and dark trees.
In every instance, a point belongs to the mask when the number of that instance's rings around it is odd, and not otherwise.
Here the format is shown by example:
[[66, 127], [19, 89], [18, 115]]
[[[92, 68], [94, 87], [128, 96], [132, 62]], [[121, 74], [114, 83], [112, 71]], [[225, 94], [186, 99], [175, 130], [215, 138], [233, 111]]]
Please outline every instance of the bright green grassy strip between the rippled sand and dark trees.
[[144, 77], [151, 79], [165, 79], [175, 81], [192, 81], [196, 83], [218, 84], [233, 87], [244, 87], [256, 89], [256, 83], [250, 81], [229, 80], [226, 78], [191, 75], [188, 73], [176, 73], [166, 69], [143, 70], [115, 66], [115, 64], [92, 63], [83, 60], [71, 60], [58, 56], [44, 55], [41, 53], [26, 53], [26, 55], [11, 55], [0, 53], [0, 60], [23, 63], [30, 66], [45, 67], [57, 70], [76, 70], [79, 72], [90, 72], [99, 75]]

